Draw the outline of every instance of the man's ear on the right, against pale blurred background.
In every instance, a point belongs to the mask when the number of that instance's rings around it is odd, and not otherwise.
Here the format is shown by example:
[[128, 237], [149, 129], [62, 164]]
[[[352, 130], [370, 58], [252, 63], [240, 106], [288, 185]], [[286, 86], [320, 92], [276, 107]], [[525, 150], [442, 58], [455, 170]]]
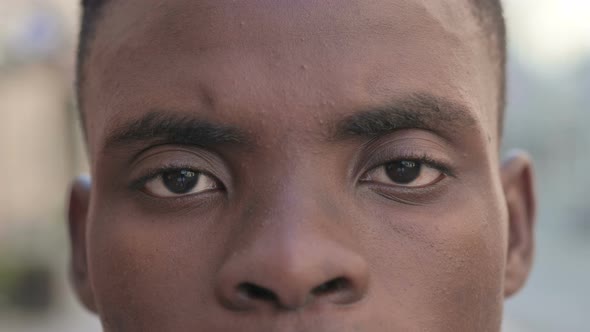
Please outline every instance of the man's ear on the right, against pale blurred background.
[[533, 262], [536, 198], [530, 157], [512, 152], [501, 169], [502, 185], [508, 207], [508, 253], [504, 296], [522, 288]]

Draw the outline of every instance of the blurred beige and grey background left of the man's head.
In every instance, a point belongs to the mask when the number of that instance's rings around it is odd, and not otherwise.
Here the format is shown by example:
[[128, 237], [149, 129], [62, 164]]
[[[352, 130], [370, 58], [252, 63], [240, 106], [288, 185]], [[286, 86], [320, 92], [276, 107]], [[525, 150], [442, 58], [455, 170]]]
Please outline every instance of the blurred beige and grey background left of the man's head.
[[66, 285], [65, 196], [85, 163], [71, 89], [77, 16], [75, 1], [0, 3], [1, 331], [98, 331]]

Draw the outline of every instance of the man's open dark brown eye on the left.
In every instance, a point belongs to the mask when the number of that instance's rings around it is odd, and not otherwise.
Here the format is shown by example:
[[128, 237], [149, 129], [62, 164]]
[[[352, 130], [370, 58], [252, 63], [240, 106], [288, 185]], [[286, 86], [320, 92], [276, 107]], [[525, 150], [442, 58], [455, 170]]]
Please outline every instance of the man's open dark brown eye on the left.
[[188, 169], [164, 171], [147, 181], [143, 191], [156, 197], [187, 196], [220, 187], [212, 176]]

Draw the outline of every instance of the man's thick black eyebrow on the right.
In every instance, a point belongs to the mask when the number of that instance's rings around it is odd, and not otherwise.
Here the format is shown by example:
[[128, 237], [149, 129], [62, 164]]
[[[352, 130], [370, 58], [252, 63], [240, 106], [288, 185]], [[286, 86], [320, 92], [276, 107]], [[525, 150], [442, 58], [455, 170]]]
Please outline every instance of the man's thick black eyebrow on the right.
[[465, 105], [422, 93], [352, 114], [336, 123], [331, 136], [373, 138], [401, 129], [424, 129], [448, 137], [476, 123]]

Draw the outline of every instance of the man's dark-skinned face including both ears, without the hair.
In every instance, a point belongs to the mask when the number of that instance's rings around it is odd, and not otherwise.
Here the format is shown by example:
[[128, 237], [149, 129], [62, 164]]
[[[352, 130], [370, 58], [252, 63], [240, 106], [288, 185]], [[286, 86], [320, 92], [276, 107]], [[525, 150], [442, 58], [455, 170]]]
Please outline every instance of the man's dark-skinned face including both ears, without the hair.
[[500, 330], [531, 163], [467, 1], [431, 3], [107, 5], [69, 215], [105, 331]]

